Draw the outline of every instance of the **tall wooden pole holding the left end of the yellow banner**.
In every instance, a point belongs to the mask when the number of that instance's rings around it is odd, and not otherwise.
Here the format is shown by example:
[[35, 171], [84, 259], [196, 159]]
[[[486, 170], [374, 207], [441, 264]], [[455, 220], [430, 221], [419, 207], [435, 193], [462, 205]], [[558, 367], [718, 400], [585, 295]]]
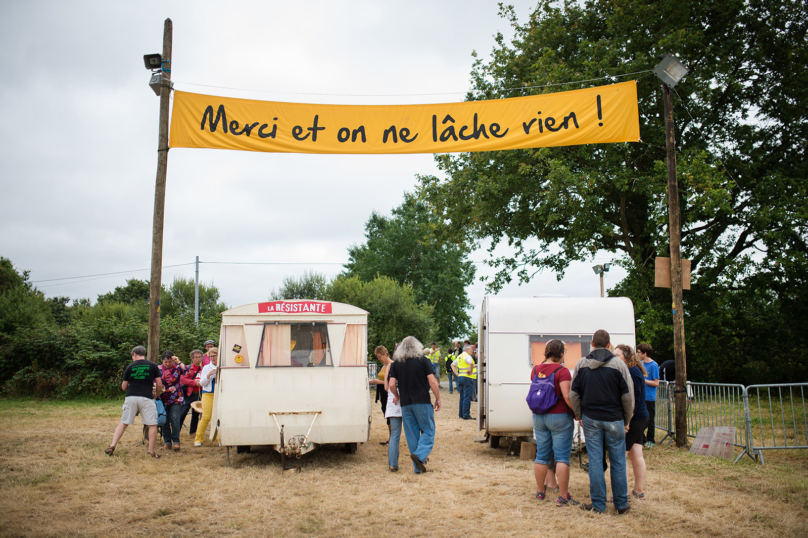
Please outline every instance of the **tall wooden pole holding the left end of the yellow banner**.
[[157, 181], [154, 186], [152, 224], [152, 269], [149, 280], [148, 359], [160, 357], [160, 291], [163, 277], [163, 220], [166, 205], [166, 168], [168, 167], [168, 107], [171, 97], [171, 41], [173, 25], [166, 19], [163, 27], [163, 65], [160, 79], [160, 134], [157, 139]]

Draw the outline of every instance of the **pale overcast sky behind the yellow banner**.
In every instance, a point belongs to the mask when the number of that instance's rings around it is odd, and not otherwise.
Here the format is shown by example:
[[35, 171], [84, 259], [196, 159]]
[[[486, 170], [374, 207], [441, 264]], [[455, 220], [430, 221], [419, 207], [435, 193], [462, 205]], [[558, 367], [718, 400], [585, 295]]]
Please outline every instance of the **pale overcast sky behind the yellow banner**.
[[[511, 3], [522, 21], [534, 6]], [[176, 89], [410, 104], [463, 100], [472, 51], [488, 57], [497, 32], [511, 35], [497, 10], [491, 0], [2, 2], [0, 255], [30, 270], [48, 296], [95, 302], [128, 278], [149, 278], [145, 270], [52, 280], [150, 266], [159, 98], [142, 57], [161, 52], [166, 17]], [[172, 150], [163, 263], [188, 265], [164, 269], [163, 282], [192, 278], [197, 255], [302, 262], [201, 264], [200, 279], [237, 306], [266, 300], [285, 275], [335, 275], [340, 265], [305, 263], [347, 261], [373, 210], [389, 212], [415, 188], [416, 174], [437, 173], [432, 155]], [[500, 295], [597, 296], [591, 265], [574, 265], [560, 282], [545, 272]], [[478, 276], [488, 274], [478, 267]], [[624, 274], [613, 270], [607, 287]], [[484, 286], [468, 292], [478, 309]]]

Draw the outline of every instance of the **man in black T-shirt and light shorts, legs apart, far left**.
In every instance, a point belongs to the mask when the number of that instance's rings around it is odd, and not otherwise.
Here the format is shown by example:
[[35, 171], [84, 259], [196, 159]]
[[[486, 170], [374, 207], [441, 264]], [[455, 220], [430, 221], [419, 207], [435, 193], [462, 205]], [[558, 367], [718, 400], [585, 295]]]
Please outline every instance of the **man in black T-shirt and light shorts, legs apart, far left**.
[[126, 427], [135, 423], [135, 416], [140, 413], [144, 426], [149, 428], [149, 449], [147, 454], [152, 458], [159, 458], [154, 452], [157, 442], [157, 406], [154, 404], [152, 392], [159, 393], [163, 389], [160, 382], [160, 369], [151, 361], [146, 360], [146, 348], [135, 346], [132, 350], [132, 362], [123, 372], [121, 390], [126, 391], [123, 401], [121, 423], [115, 428], [112, 435], [112, 444], [104, 452], [108, 456], [115, 453], [115, 447], [121, 440]]

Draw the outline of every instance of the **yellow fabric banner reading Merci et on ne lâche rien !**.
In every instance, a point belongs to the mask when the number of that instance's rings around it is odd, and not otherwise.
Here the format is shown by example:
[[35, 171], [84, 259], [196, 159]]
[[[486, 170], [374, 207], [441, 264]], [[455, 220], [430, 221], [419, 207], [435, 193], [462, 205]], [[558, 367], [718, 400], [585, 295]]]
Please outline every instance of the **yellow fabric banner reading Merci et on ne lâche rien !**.
[[434, 105], [316, 105], [175, 92], [172, 148], [452, 153], [636, 142], [634, 81]]

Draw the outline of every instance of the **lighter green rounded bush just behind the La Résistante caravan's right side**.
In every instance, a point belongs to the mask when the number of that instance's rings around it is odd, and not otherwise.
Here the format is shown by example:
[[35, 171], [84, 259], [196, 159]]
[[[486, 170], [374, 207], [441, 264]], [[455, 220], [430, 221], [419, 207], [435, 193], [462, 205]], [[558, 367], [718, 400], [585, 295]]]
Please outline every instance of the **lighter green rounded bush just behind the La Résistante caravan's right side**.
[[329, 300], [368, 311], [368, 353], [376, 346], [394, 349], [405, 336], [428, 343], [435, 335], [432, 305], [419, 304], [408, 285], [378, 276], [363, 282], [356, 276], [340, 276], [329, 288]]

